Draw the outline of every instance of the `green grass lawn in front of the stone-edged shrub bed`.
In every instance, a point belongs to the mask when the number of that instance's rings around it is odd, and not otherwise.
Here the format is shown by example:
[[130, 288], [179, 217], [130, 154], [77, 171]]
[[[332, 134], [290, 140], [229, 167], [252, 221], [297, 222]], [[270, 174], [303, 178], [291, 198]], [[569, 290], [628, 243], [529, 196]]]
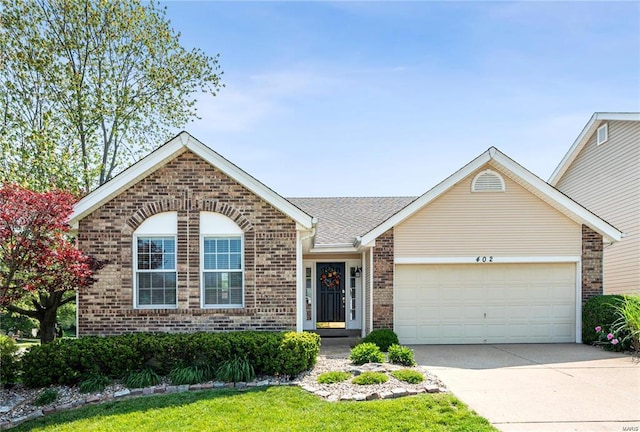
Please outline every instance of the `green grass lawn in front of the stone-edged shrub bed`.
[[297, 387], [141, 397], [32, 420], [12, 431], [495, 431], [450, 394], [326, 402]]

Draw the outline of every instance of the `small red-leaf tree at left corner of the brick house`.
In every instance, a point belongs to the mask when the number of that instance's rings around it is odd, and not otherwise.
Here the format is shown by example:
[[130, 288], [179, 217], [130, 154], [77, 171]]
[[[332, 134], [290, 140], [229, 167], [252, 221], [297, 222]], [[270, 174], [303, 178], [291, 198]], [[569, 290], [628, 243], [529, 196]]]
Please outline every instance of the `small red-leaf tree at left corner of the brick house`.
[[69, 235], [76, 198], [0, 186], [0, 310], [40, 323], [40, 341], [55, 339], [58, 308], [94, 282], [102, 263], [78, 249]]

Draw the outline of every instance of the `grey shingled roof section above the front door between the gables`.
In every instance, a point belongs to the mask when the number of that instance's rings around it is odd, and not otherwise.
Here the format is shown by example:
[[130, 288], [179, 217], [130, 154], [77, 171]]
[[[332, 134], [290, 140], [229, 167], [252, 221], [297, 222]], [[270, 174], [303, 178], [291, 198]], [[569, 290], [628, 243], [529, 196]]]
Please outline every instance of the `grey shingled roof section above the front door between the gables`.
[[416, 197], [287, 198], [318, 218], [315, 246], [351, 246]]

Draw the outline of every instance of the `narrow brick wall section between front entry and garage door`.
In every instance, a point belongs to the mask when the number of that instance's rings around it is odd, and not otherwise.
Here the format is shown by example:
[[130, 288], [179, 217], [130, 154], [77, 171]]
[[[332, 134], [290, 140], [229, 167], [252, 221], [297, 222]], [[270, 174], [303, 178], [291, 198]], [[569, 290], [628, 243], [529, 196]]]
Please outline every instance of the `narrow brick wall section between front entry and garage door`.
[[393, 228], [373, 248], [373, 328], [393, 329]]

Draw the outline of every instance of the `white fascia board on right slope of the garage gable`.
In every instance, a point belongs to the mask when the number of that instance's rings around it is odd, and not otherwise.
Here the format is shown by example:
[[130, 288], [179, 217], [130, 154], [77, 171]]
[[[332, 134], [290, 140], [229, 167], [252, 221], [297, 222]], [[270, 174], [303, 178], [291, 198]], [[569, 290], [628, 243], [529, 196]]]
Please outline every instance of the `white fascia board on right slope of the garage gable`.
[[542, 179], [532, 174], [531, 171], [520, 166], [503, 153], [497, 151], [493, 156], [493, 159], [496, 163], [502, 165], [507, 170], [531, 185], [531, 187], [535, 188], [547, 199], [555, 202], [559, 207], [565, 209], [565, 211], [573, 220], [590, 226], [592, 229], [594, 229], [604, 237], [607, 237], [611, 241], [620, 241], [620, 239], [622, 238], [622, 233], [618, 229], [605, 222], [595, 214], [591, 213], [589, 210], [587, 210], [571, 198], [567, 197], [548, 183], [544, 182]]

